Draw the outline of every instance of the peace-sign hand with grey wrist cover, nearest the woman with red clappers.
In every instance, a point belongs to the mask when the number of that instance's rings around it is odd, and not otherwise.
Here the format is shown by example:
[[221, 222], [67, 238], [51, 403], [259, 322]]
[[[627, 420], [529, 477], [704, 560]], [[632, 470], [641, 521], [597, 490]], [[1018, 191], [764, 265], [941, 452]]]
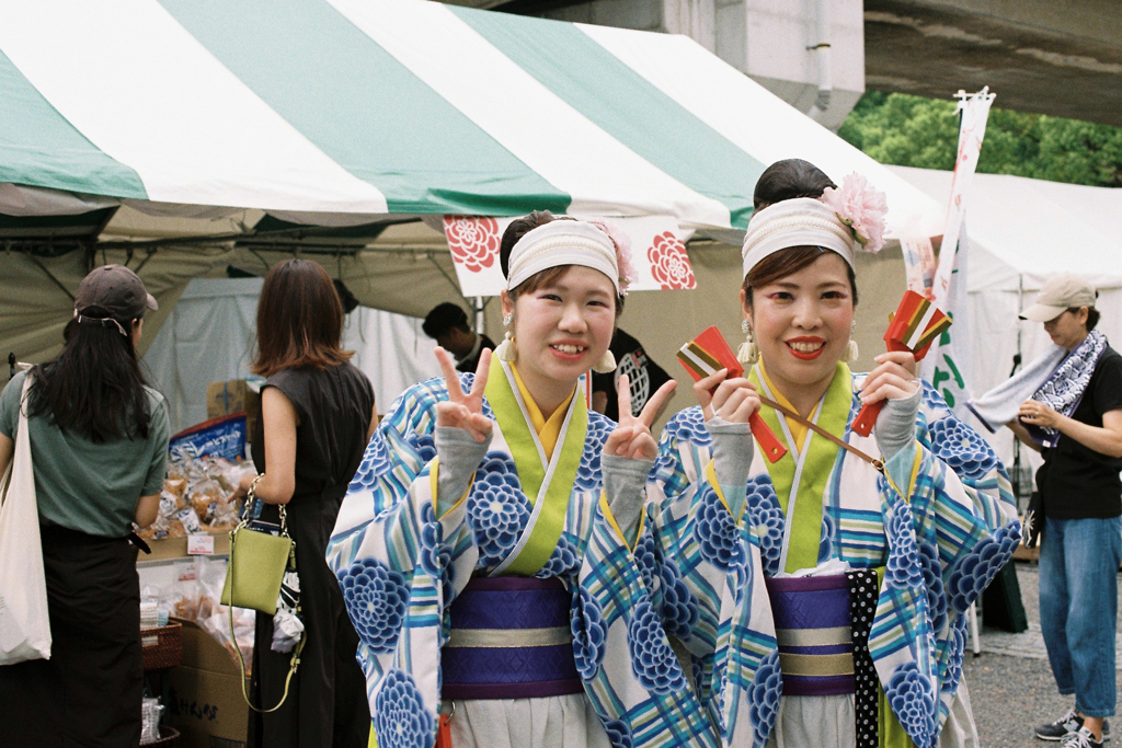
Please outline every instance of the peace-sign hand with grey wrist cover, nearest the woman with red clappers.
[[664, 384], [646, 401], [642, 413], [634, 416], [631, 407], [631, 380], [627, 375], [619, 376], [619, 425], [604, 443], [600, 470], [608, 508], [628, 547], [635, 545], [643, 499], [646, 496], [646, 479], [659, 453], [651, 425], [659, 418], [677, 386], [678, 382], [673, 379]]

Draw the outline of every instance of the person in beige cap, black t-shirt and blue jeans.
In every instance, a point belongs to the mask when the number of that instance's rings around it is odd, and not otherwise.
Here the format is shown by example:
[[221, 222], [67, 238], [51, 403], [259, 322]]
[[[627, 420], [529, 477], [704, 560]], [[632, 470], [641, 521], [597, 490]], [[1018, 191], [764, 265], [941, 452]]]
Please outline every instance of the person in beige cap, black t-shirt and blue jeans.
[[1037, 471], [1040, 627], [1065, 715], [1037, 727], [1042, 740], [1096, 748], [1114, 714], [1114, 631], [1122, 563], [1122, 357], [1095, 330], [1095, 289], [1078, 276], [1050, 278], [1024, 320], [1042, 322], [1059, 364], [1009, 424], [1041, 452]]

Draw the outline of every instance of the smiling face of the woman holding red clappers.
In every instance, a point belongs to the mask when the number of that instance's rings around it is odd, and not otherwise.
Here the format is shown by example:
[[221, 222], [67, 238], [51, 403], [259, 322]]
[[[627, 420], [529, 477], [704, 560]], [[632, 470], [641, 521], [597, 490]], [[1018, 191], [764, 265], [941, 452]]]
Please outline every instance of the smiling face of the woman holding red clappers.
[[801, 270], [753, 288], [751, 304], [743, 301], [760, 357], [780, 391], [792, 400], [825, 393], [853, 325], [845, 260], [824, 252]]

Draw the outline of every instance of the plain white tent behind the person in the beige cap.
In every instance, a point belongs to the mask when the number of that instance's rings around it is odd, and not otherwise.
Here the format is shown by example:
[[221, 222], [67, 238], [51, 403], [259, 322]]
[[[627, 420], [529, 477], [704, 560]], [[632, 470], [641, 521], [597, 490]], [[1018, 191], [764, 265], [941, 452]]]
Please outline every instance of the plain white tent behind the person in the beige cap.
[[[939, 202], [950, 194], [950, 172], [889, 169]], [[1122, 344], [1122, 190], [977, 174], [969, 200], [967, 386], [974, 395], [1004, 381], [1014, 354], [1027, 363], [1050, 344], [1042, 325], [1018, 314], [1058, 273], [1075, 273], [1095, 286], [1098, 329], [1115, 347]], [[1008, 460], [1010, 433], [1003, 430], [993, 441]]]

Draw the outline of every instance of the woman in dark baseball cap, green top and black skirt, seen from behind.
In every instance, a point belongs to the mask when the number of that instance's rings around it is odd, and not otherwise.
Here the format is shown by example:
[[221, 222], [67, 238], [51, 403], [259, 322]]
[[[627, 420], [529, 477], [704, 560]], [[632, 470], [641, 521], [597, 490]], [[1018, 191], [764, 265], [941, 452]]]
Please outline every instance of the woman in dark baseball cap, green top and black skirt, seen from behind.
[[128, 268], [79, 286], [57, 359], [0, 395], [0, 473], [27, 390], [27, 434], [43, 542], [49, 661], [0, 667], [0, 724], [11, 746], [136, 746], [142, 665], [132, 523], [151, 524], [167, 459], [163, 396], [136, 345], [156, 299]]

